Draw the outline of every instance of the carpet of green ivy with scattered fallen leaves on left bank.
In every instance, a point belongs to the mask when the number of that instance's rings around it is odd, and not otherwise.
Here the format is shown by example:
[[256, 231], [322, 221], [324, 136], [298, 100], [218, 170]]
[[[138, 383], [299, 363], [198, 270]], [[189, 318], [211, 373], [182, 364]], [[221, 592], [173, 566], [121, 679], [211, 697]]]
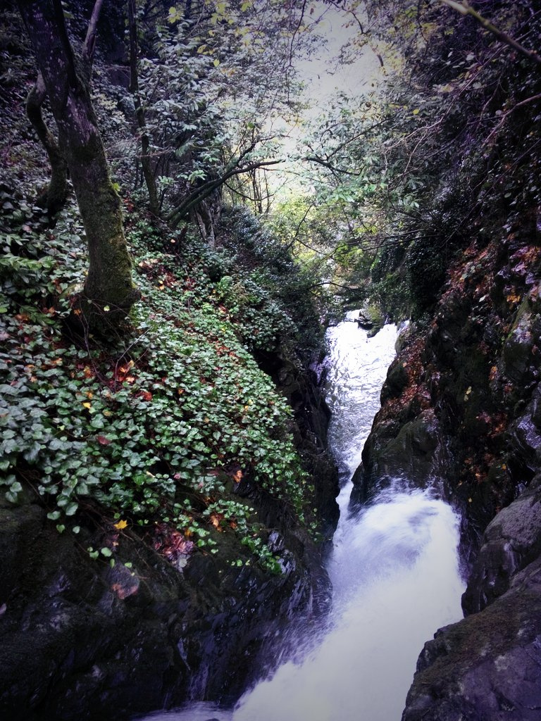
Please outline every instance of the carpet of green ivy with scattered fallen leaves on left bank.
[[[107, 346], [84, 336], [74, 344], [66, 322], [71, 281], [84, 280], [78, 221], [66, 211], [53, 231], [25, 224], [23, 243], [21, 216], [33, 209], [17, 207], [14, 198], [7, 203], [5, 224], [15, 231], [6, 236], [7, 249], [17, 244], [20, 255], [4, 256], [0, 277], [6, 496], [17, 503], [32, 489], [59, 531], [76, 531], [92, 501], [149, 533], [167, 523], [205, 552], [216, 552], [222, 531], [278, 571], [268, 530], [239, 487], [281, 499], [302, 516], [307, 476], [289, 433], [291, 410], [248, 350], [252, 341], [234, 312], [239, 301], [231, 296], [232, 309], [222, 302], [227, 276], [213, 282], [206, 274], [210, 252], [205, 256], [201, 244], [182, 234], [160, 236], [144, 222], [133, 224], [143, 292], [133, 331]], [[164, 242], [167, 253], [157, 249]], [[243, 283], [253, 296], [243, 298], [245, 316], [262, 299], [272, 308], [268, 291]], [[286, 322], [283, 311], [277, 318], [278, 325]], [[273, 322], [267, 328], [279, 332]], [[225, 519], [219, 528], [216, 518]]]

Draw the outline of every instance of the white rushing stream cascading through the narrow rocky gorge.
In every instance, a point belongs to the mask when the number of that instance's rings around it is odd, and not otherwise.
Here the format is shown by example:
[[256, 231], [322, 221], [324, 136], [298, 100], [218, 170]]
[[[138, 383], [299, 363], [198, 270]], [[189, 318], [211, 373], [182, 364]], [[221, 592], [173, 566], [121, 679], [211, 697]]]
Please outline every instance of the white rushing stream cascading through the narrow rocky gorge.
[[351, 477], [397, 338], [393, 325], [367, 337], [353, 322], [356, 312], [327, 331], [329, 443], [343, 486], [327, 627], [300, 640], [296, 659], [247, 691], [233, 711], [192, 704], [149, 721], [400, 721], [424, 642], [462, 618], [459, 519], [449, 505], [402, 481], [361, 513], [348, 513]]

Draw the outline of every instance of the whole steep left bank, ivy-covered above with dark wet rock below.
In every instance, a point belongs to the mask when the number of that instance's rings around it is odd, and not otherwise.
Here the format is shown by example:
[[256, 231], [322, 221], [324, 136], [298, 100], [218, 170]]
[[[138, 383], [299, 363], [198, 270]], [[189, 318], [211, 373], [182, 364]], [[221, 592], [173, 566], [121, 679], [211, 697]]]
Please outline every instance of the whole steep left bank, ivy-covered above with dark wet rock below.
[[[129, 197], [120, 154], [142, 298], [110, 337], [79, 323], [84, 231], [73, 198], [52, 218], [35, 203], [48, 167], [25, 118], [34, 71], [17, 27], [12, 8], [0, 27], [0, 716], [232, 702], [286, 629], [329, 608], [338, 480], [307, 371], [317, 314], [302, 298], [291, 305], [307, 314], [288, 312], [294, 262], [273, 265], [272, 239], [270, 255], [253, 251], [248, 213], [243, 239], [225, 247], [224, 233], [211, 251]], [[97, 63], [111, 149], [131, 129], [126, 92], [106, 78]], [[311, 342], [301, 325], [316, 327]]]

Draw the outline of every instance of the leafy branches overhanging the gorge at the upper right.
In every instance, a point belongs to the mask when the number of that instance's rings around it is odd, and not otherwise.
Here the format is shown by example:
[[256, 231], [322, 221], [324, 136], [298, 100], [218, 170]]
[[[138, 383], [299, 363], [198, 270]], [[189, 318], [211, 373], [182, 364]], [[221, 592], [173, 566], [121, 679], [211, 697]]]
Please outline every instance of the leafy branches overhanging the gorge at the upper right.
[[[395, 317], [421, 317], [477, 218], [488, 238], [496, 208], [539, 202], [539, 76], [527, 53], [441, 2], [330, 4], [358, 28], [352, 48], [377, 46], [387, 81], [360, 103], [338, 98], [312, 128], [309, 202], [334, 199], [326, 217], [340, 243], [369, 255], [372, 298]], [[483, 14], [503, 36], [539, 47], [537, 4], [505, 1]], [[363, 282], [366, 263], [345, 278]]]

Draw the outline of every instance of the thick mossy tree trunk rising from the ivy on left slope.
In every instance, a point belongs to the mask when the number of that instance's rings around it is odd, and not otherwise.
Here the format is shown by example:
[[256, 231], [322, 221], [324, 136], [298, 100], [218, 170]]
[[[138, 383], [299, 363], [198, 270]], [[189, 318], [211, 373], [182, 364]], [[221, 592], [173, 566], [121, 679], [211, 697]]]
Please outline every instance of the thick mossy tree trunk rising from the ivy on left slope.
[[[92, 60], [74, 56], [61, 0], [17, 0], [43, 76], [58, 138], [69, 167], [87, 234], [89, 270], [84, 296], [97, 311], [124, 315], [138, 294], [122, 225], [122, 208], [111, 182], [89, 92]], [[85, 48], [87, 45], [85, 44]]]

